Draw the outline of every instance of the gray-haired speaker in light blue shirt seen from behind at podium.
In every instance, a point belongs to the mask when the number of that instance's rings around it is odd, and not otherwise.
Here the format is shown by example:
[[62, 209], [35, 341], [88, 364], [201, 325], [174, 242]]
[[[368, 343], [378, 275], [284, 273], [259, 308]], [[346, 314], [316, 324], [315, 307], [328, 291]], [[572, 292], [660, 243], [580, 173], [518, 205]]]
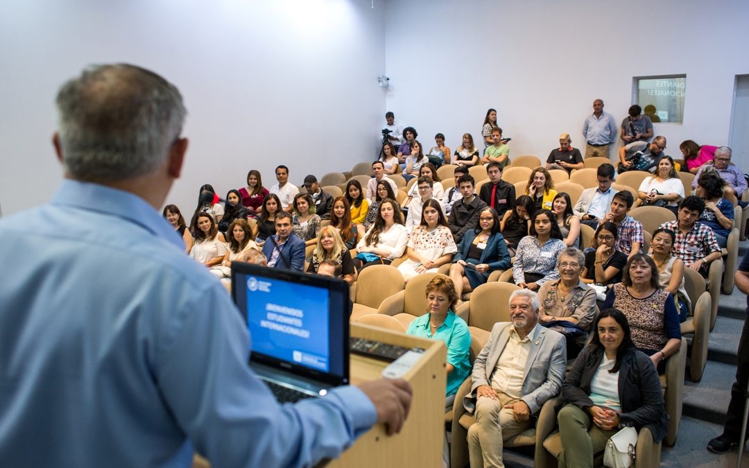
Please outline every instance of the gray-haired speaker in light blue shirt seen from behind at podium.
[[[0, 220], [0, 460], [8, 467], [300, 467], [375, 422], [401, 428], [402, 380], [276, 403], [222, 285], [157, 212], [187, 139], [174, 86], [131, 65], [61, 88], [66, 180]], [[392, 401], [386, 402], [383, 399]]]

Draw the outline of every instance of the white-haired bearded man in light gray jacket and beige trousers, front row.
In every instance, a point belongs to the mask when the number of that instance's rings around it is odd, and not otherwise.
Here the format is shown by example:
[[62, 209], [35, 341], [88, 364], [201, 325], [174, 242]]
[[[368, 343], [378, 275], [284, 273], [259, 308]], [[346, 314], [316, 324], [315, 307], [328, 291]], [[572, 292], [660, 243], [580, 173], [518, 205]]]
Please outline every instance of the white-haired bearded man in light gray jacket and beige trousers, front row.
[[567, 350], [561, 333], [539, 325], [539, 295], [510, 295], [510, 320], [494, 324], [473, 363], [471, 392], [463, 400], [476, 424], [468, 429], [470, 466], [504, 467], [503, 440], [530, 426], [543, 404], [559, 394]]

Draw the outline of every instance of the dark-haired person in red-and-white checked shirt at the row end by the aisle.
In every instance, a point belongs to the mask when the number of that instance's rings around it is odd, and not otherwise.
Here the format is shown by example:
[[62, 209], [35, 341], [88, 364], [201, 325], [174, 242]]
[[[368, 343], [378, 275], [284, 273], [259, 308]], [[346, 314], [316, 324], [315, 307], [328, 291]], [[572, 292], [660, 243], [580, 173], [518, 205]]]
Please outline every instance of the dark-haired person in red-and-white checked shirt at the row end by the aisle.
[[660, 227], [676, 234], [673, 255], [684, 261], [686, 267], [707, 276], [708, 265], [721, 258], [721, 246], [712, 229], [697, 221], [705, 210], [705, 201], [690, 195], [679, 204], [676, 221], [664, 222]]

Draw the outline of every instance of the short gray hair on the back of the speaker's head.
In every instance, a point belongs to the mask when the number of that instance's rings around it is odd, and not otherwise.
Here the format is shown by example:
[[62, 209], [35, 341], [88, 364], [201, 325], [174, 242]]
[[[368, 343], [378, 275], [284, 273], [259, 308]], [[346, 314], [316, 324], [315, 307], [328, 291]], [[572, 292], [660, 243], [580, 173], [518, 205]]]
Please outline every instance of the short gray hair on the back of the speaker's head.
[[65, 168], [98, 182], [163, 165], [187, 115], [174, 85], [129, 64], [87, 68], [60, 88], [57, 108]]

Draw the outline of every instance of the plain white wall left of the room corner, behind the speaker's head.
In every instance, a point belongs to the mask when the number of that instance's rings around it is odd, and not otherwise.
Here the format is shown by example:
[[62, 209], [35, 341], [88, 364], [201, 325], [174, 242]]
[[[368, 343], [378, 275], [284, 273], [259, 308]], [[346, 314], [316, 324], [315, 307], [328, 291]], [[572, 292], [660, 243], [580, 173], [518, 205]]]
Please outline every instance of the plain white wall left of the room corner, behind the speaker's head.
[[61, 180], [49, 144], [58, 87], [126, 61], [181, 89], [186, 166], [168, 202], [192, 213], [285, 162], [291, 181], [374, 159], [384, 93], [383, 7], [369, 0], [0, 0], [0, 207], [43, 203]]

